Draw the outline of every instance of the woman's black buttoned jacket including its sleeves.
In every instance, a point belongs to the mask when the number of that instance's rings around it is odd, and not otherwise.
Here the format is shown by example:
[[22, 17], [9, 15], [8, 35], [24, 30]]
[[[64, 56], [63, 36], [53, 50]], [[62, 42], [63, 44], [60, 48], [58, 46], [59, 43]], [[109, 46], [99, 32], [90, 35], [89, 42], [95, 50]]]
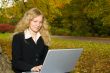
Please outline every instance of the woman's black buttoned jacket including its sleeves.
[[32, 38], [24, 39], [24, 32], [13, 36], [12, 69], [15, 73], [30, 71], [32, 67], [43, 64], [48, 51], [40, 36], [37, 44]]

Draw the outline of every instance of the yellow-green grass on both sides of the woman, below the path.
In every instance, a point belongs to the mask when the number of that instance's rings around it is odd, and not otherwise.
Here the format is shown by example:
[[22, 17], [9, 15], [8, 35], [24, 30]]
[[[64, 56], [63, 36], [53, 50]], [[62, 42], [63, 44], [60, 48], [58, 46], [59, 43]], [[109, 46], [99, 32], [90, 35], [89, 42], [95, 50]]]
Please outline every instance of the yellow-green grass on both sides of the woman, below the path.
[[[11, 59], [11, 34], [0, 34], [0, 44]], [[110, 73], [110, 44], [52, 38], [50, 49], [83, 48], [83, 53], [72, 73]]]

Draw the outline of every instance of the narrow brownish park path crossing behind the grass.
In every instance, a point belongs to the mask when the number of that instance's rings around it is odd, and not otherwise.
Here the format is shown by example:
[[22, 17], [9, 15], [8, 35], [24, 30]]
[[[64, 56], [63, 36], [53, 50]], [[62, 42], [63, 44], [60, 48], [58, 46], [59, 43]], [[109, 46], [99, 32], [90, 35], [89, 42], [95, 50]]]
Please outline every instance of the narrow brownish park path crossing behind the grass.
[[80, 41], [92, 41], [92, 42], [101, 42], [110, 44], [110, 38], [102, 37], [80, 37], [80, 36], [52, 36], [55, 38], [68, 39], [68, 40], [80, 40]]

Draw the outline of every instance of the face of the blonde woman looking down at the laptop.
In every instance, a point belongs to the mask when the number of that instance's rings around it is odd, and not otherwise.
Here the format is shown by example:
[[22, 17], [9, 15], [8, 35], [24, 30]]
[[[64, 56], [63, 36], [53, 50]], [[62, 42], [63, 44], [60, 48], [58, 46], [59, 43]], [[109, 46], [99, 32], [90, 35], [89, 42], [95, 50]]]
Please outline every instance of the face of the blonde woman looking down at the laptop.
[[43, 23], [43, 16], [39, 15], [30, 21], [29, 28], [33, 32], [38, 32], [42, 27], [42, 23]]

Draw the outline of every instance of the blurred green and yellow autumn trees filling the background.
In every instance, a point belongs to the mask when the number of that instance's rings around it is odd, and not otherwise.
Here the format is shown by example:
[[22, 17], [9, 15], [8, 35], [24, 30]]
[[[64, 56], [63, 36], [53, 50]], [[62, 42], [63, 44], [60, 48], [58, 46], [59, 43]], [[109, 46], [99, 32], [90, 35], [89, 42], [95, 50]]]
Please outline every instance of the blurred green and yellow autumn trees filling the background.
[[54, 35], [109, 36], [110, 0], [14, 0], [0, 8], [0, 23], [16, 25], [24, 12], [37, 7]]

